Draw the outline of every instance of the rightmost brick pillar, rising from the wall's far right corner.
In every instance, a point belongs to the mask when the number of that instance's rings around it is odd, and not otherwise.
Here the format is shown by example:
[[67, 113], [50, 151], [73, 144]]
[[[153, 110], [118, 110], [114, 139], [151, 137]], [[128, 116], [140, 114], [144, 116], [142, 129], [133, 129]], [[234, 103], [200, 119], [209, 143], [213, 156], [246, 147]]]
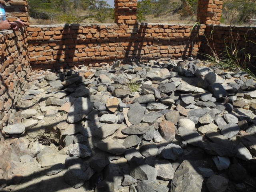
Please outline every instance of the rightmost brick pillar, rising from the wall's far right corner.
[[220, 24], [223, 0], [198, 0], [197, 19], [200, 24]]

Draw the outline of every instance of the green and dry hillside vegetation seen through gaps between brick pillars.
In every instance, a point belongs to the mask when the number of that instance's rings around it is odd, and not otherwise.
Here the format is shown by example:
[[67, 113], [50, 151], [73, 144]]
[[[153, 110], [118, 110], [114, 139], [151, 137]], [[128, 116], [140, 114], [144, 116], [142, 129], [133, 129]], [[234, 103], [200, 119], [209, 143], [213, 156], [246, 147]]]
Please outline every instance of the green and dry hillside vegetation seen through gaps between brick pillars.
[[[113, 23], [107, 0], [28, 0], [31, 24]], [[138, 1], [139, 22], [194, 23], [198, 0]], [[222, 24], [256, 25], [256, 0], [224, 0]]]

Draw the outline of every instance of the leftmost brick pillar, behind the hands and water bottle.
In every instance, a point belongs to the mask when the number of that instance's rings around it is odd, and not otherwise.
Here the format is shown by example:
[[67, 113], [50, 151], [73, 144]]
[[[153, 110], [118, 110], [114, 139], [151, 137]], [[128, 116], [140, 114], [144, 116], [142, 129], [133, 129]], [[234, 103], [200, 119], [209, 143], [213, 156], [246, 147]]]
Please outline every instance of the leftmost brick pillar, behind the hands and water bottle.
[[0, 0], [6, 13], [6, 18], [9, 21], [14, 21], [17, 18], [29, 21], [28, 2], [27, 0]]

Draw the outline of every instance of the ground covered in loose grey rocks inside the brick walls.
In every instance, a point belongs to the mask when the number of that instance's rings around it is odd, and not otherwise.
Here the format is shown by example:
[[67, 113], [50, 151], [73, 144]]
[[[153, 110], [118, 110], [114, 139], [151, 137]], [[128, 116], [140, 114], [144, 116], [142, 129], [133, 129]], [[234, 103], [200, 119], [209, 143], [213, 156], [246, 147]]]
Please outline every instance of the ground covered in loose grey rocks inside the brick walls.
[[256, 87], [200, 60], [34, 71], [0, 134], [0, 191], [256, 191]]

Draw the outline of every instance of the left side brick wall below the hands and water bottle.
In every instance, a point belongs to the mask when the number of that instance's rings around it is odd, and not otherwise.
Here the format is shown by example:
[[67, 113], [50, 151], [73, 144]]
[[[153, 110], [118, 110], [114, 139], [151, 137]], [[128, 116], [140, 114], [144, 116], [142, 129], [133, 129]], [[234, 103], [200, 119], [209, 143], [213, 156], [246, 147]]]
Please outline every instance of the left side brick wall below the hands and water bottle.
[[0, 32], [0, 129], [21, 99], [30, 73], [25, 29]]

